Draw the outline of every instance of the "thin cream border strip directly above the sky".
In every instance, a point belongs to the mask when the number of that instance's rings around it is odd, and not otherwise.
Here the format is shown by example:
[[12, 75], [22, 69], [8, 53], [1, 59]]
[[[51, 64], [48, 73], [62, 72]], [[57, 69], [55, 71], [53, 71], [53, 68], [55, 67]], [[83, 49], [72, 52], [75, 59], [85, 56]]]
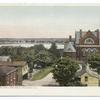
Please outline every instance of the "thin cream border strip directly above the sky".
[[0, 3], [0, 6], [100, 6], [100, 3]]

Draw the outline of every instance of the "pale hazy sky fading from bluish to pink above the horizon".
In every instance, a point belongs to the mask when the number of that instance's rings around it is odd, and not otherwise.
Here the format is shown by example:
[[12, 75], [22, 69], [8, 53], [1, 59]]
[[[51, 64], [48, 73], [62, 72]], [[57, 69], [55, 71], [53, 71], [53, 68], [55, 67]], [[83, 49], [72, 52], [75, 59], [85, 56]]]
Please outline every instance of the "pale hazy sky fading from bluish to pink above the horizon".
[[68, 37], [100, 29], [100, 6], [0, 6], [1, 38]]

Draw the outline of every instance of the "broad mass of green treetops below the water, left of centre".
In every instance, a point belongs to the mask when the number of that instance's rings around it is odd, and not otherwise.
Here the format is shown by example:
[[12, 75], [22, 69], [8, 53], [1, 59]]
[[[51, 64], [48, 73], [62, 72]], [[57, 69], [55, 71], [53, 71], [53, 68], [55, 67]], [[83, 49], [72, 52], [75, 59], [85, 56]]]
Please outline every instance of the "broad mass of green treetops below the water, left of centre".
[[20, 46], [3, 46], [0, 47], [0, 55], [10, 55], [12, 61], [26, 61], [30, 67], [30, 72], [33, 71], [35, 61], [42, 62], [45, 66], [48, 66], [55, 61], [54, 55], [50, 53], [42, 44], [29, 48]]

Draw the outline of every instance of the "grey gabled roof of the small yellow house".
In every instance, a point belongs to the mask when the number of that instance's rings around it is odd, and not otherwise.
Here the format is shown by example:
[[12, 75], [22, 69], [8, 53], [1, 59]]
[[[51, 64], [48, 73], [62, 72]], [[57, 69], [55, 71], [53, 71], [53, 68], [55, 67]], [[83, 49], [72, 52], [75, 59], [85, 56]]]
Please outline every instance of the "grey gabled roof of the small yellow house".
[[81, 75], [87, 73], [88, 75], [92, 76], [92, 77], [95, 77], [95, 78], [99, 78], [100, 75], [98, 75], [97, 72], [95, 71], [92, 71], [89, 67], [89, 64], [87, 65], [79, 65], [80, 66], [80, 69], [76, 72], [76, 76], [80, 77]]

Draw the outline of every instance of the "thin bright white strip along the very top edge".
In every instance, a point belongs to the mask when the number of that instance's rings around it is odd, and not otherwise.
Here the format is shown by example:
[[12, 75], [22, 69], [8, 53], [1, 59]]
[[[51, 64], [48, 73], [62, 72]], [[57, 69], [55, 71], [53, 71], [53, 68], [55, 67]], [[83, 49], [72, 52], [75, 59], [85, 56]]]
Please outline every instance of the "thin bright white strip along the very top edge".
[[100, 0], [0, 0], [0, 3], [100, 3]]

